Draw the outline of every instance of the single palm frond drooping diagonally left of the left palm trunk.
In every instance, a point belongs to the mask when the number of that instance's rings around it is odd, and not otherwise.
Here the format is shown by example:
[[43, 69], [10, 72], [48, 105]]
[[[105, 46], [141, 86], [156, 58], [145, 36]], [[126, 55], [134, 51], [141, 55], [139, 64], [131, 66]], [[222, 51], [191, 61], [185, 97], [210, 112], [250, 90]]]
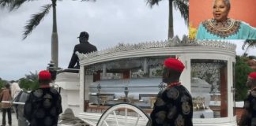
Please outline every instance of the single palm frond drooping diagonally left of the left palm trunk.
[[45, 17], [47, 13], [49, 13], [51, 6], [51, 4], [42, 6], [41, 13], [36, 13], [32, 15], [32, 18], [28, 20], [27, 25], [24, 26], [25, 31], [23, 32], [23, 39], [26, 39], [27, 36], [32, 32], [32, 30], [36, 28], [38, 24], [40, 24], [40, 21], [43, 20], [43, 17]]

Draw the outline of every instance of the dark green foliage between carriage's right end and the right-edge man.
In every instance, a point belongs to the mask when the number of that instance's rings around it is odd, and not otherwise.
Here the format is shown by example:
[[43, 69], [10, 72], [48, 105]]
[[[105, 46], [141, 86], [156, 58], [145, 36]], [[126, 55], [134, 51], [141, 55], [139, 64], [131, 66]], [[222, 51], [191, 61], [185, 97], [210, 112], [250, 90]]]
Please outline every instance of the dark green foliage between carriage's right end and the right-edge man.
[[236, 57], [235, 63], [235, 101], [243, 101], [247, 97], [249, 88], [246, 86], [247, 76], [253, 69], [247, 65], [247, 57]]

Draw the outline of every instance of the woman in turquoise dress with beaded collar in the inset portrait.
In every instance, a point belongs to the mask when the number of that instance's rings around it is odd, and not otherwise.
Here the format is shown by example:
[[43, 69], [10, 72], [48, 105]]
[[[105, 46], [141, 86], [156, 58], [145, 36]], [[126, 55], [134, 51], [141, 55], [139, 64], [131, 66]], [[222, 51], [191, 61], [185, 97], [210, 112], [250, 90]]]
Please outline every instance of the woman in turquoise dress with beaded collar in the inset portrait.
[[228, 17], [229, 0], [213, 0], [213, 18], [198, 26], [196, 39], [256, 39], [256, 28]]

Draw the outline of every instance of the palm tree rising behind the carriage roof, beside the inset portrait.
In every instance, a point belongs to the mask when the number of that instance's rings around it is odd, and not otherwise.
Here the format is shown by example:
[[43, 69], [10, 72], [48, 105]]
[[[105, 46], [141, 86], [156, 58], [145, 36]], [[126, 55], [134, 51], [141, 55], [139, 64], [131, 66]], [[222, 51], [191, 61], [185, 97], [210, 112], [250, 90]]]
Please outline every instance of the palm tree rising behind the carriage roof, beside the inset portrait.
[[[156, 5], [158, 6], [158, 2], [162, 0], [147, 0], [147, 4], [150, 7]], [[168, 39], [173, 38], [173, 13], [172, 13], [172, 5], [175, 9], [179, 9], [181, 16], [184, 18], [186, 25], [188, 24], [189, 17], [189, 2], [188, 0], [169, 0], [169, 27], [168, 27]]]

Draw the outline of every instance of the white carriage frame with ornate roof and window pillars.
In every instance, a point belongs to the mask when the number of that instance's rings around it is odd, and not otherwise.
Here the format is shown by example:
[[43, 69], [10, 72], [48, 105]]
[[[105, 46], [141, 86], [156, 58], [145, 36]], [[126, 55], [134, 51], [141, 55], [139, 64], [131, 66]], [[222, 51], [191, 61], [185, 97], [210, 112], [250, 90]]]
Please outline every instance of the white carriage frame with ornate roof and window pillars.
[[[152, 57], [152, 56], [171, 56], [176, 55], [186, 66], [180, 79], [184, 86], [190, 91], [190, 61], [192, 59], [210, 59], [210, 60], [223, 60], [228, 62], [228, 117], [209, 118], [209, 119], [194, 119], [195, 126], [212, 126], [212, 125], [225, 125], [235, 126], [236, 116], [234, 116], [233, 107], [235, 101], [233, 99], [232, 85], [233, 85], [233, 63], [235, 62], [235, 44], [226, 43], [222, 41], [188, 41], [186, 38], [180, 41], [177, 38], [170, 39], [164, 42], [155, 43], [139, 43], [139, 44], [126, 44], [115, 46], [114, 48], [103, 50], [100, 52], [93, 52], [91, 54], [79, 54], [80, 58], [80, 109], [84, 110], [84, 100], [88, 100], [88, 84], [92, 83], [85, 78], [85, 66], [92, 65], [105, 61], [113, 61], [118, 59], [130, 57]], [[189, 79], [188, 79], [189, 78]], [[84, 112], [85, 113], [85, 112]], [[81, 113], [82, 116], [84, 113]]]

